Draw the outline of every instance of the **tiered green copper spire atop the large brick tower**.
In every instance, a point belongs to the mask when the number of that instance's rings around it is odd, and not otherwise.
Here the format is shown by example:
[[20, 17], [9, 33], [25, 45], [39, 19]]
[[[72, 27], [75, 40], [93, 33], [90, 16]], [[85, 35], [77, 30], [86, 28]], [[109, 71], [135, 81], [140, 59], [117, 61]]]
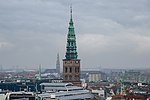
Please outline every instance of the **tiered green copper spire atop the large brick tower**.
[[77, 46], [76, 46], [76, 36], [72, 20], [72, 6], [70, 7], [70, 22], [69, 22], [69, 31], [67, 35], [67, 46], [66, 46], [66, 59], [72, 60], [77, 59]]

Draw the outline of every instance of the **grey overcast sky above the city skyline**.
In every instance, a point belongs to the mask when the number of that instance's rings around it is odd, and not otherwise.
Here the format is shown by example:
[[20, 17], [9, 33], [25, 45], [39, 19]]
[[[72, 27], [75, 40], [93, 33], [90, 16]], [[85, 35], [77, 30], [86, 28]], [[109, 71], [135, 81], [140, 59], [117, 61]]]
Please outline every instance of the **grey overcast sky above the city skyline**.
[[150, 67], [150, 0], [0, 0], [0, 65], [62, 67], [71, 3], [81, 68]]

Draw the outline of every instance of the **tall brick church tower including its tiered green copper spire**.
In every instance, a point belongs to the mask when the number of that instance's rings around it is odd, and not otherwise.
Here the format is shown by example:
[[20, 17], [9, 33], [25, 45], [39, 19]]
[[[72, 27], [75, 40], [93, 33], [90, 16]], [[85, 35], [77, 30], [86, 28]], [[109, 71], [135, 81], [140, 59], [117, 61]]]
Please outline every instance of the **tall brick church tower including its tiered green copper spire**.
[[63, 59], [63, 82], [71, 82], [80, 86], [80, 59], [78, 59], [76, 36], [72, 19], [72, 7], [70, 7], [70, 22], [67, 35], [66, 55]]

